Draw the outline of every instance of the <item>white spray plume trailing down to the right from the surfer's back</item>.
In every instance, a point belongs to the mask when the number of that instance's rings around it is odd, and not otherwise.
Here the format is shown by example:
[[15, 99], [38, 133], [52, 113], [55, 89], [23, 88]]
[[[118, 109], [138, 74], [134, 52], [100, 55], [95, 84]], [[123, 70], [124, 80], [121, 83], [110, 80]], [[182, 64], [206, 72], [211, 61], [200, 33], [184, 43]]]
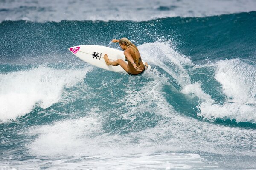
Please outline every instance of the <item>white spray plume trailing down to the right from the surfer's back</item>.
[[171, 42], [145, 43], [139, 46], [140, 53], [149, 63], [159, 66], [182, 87], [181, 92], [184, 94], [194, 94], [203, 101], [211, 102], [211, 96], [206, 94], [200, 82], [191, 82], [189, 71], [185, 67], [192, 68], [195, 65], [188, 57], [177, 53], [170, 45]]

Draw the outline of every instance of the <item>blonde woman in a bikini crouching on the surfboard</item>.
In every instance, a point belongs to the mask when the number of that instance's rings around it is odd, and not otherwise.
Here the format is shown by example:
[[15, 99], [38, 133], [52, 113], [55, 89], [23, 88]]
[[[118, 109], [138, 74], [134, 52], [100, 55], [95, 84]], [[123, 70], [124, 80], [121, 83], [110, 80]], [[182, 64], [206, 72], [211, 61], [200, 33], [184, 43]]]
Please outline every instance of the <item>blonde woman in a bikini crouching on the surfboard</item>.
[[110, 61], [108, 55], [105, 54], [104, 59], [106, 64], [113, 66], [120, 65], [131, 76], [143, 74], [147, 63], [145, 63], [145, 65], [143, 64], [138, 48], [127, 38], [121, 38], [120, 40], [113, 39], [111, 42], [119, 42], [120, 47], [124, 50], [125, 60], [128, 64], [122, 59]]

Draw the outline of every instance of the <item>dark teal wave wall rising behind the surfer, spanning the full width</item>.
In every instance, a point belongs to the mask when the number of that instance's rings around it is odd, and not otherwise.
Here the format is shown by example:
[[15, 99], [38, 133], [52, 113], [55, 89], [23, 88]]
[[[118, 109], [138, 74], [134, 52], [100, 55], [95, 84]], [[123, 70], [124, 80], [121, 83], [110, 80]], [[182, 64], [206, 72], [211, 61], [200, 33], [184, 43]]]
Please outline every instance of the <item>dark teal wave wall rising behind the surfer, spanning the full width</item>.
[[238, 57], [254, 61], [255, 22], [256, 12], [148, 22], [5, 21], [0, 24], [0, 48], [4, 49], [0, 62], [70, 62], [73, 57], [67, 55], [67, 47], [96, 44], [116, 48], [110, 43], [115, 37], [128, 37], [137, 45], [171, 40], [177, 52], [199, 64]]

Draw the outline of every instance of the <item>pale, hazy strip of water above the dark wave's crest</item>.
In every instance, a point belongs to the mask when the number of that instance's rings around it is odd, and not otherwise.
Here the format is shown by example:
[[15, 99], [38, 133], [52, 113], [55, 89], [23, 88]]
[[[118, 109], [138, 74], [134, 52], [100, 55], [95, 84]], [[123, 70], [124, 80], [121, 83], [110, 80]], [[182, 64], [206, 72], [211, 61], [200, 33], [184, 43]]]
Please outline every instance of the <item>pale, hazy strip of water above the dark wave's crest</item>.
[[0, 21], [133, 20], [205, 17], [256, 11], [255, 0], [12, 0], [0, 2]]

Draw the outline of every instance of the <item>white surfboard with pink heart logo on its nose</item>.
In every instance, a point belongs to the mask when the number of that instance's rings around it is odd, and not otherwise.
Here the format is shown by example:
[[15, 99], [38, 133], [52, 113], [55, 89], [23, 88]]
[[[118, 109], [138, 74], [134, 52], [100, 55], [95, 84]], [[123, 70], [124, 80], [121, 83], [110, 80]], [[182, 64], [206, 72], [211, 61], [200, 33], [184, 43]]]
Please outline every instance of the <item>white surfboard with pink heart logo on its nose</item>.
[[[116, 59], [122, 59], [125, 61], [124, 52], [109, 48], [100, 45], [79, 45], [68, 48], [71, 53], [73, 53], [76, 57], [81, 60], [88, 62], [91, 65], [95, 65], [96, 67], [103, 68], [105, 70], [113, 71], [113, 72], [125, 72], [124, 69], [120, 65], [112, 66], [107, 65], [104, 60], [104, 54], [108, 55], [108, 58], [112, 61]], [[142, 61], [145, 63], [144, 61]], [[149, 66], [148, 68], [151, 69]]]

